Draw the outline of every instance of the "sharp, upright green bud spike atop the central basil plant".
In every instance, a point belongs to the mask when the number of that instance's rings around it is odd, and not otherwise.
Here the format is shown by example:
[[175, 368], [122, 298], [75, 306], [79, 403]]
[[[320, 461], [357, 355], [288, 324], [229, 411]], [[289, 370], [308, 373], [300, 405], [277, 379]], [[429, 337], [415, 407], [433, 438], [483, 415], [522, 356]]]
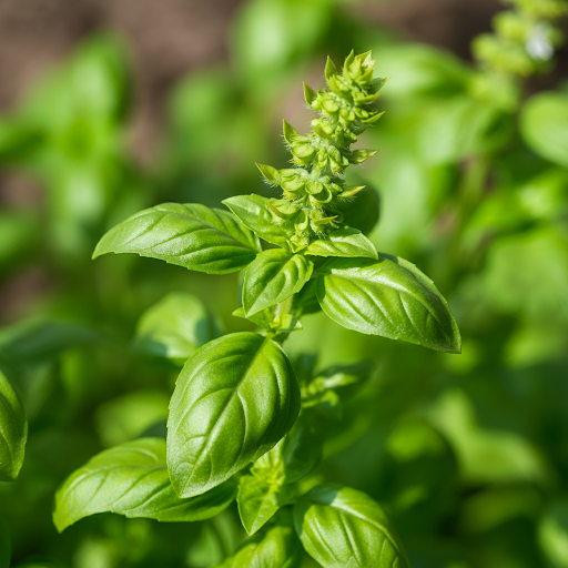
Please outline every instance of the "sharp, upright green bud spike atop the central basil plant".
[[264, 178], [283, 190], [282, 200], [270, 204], [274, 221], [288, 233], [293, 251], [305, 248], [313, 239], [338, 229], [343, 221], [341, 201], [353, 197], [363, 186], [345, 184], [349, 164], [359, 164], [374, 150], [349, 150], [357, 136], [383, 113], [371, 106], [386, 79], [373, 79], [371, 52], [345, 60], [338, 73], [331, 59], [325, 67], [328, 90], [317, 93], [304, 84], [306, 103], [318, 112], [310, 134], [298, 134], [284, 121], [284, 138], [295, 168], [276, 170], [256, 164]]

